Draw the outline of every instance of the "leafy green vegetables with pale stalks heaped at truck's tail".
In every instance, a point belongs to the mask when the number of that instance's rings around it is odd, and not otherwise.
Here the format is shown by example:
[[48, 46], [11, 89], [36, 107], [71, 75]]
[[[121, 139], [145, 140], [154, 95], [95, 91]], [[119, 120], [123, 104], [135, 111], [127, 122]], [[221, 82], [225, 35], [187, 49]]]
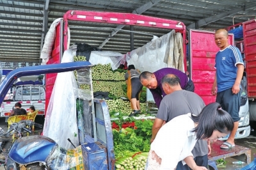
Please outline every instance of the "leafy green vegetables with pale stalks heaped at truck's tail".
[[116, 124], [135, 122], [133, 128], [113, 129], [116, 169], [144, 169], [150, 150], [152, 120], [115, 120]]

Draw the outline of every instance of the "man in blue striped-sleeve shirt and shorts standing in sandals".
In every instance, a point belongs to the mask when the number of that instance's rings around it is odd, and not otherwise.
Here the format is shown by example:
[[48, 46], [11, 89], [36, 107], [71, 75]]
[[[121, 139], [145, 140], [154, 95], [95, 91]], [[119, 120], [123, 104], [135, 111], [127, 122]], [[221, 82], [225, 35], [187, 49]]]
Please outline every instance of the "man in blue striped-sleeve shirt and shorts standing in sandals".
[[234, 129], [220, 148], [228, 149], [235, 146], [235, 135], [238, 128], [240, 109], [240, 82], [243, 77], [244, 63], [237, 47], [228, 43], [228, 32], [219, 29], [215, 33], [215, 43], [220, 47], [215, 59], [215, 79], [212, 85], [212, 95], [217, 95], [216, 102], [227, 111], [234, 120]]

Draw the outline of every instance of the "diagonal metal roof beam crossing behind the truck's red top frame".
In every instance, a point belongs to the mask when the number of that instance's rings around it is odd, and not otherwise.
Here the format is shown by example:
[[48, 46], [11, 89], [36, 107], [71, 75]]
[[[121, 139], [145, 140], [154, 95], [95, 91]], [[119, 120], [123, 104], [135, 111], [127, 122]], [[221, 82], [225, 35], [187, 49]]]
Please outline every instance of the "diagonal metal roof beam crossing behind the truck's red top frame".
[[[141, 14], [145, 11], [147, 11], [149, 8], [151, 8], [152, 6], [156, 5], [157, 3], [159, 3], [161, 0], [156, 0], [156, 1], [148, 1], [147, 3], [143, 4], [142, 6], [140, 6], [139, 8], [133, 10], [132, 13], [136, 13], [136, 14]], [[112, 31], [112, 33], [110, 33], [110, 35], [108, 36], [108, 38], [106, 38], [104, 40], [104, 42], [102, 42], [99, 46], [99, 49], [102, 49], [102, 47], [111, 39], [112, 36], [116, 35], [116, 33], [118, 33], [119, 29], [122, 29], [125, 25], [119, 25], [116, 27], [115, 31]]]

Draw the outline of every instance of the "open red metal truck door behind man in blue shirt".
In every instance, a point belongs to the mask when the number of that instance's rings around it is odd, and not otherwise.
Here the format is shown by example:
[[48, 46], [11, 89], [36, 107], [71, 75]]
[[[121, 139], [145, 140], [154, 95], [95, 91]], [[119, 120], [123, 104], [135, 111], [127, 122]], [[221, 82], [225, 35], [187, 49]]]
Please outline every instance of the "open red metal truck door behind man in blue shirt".
[[[230, 35], [229, 43], [234, 44]], [[195, 84], [195, 93], [203, 98], [205, 104], [215, 102], [216, 96], [211, 95], [215, 76], [215, 55], [220, 50], [214, 41], [214, 32], [189, 31], [190, 73]]]

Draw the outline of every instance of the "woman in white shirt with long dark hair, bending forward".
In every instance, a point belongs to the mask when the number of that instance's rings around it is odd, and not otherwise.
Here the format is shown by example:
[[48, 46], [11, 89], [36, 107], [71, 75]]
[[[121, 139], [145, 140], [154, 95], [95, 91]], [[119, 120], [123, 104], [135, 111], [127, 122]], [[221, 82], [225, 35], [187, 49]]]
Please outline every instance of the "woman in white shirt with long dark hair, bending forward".
[[216, 102], [206, 105], [198, 116], [193, 113], [177, 116], [158, 131], [150, 146], [145, 169], [173, 170], [180, 160], [191, 169], [206, 169], [190, 162], [196, 141], [204, 139], [214, 142], [229, 134], [233, 128], [232, 117]]

